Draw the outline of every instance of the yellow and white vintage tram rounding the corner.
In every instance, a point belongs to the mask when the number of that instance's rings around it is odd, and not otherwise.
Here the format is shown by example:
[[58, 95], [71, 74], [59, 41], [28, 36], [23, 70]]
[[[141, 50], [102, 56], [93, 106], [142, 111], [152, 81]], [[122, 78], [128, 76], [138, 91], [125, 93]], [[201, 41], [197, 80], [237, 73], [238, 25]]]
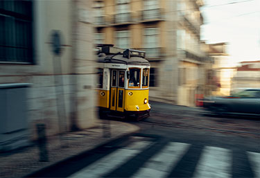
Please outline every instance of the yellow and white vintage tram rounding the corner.
[[144, 51], [102, 46], [98, 52], [98, 107], [101, 116], [150, 116], [149, 70]]

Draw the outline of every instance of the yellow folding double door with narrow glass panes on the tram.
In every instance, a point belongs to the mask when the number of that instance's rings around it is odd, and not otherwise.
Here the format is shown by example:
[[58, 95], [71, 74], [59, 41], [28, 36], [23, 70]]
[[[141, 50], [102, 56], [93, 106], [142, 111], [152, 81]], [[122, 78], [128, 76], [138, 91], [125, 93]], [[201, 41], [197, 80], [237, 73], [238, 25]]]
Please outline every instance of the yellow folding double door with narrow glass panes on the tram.
[[125, 92], [125, 71], [113, 69], [111, 71], [110, 84], [110, 109], [123, 112], [123, 100]]

